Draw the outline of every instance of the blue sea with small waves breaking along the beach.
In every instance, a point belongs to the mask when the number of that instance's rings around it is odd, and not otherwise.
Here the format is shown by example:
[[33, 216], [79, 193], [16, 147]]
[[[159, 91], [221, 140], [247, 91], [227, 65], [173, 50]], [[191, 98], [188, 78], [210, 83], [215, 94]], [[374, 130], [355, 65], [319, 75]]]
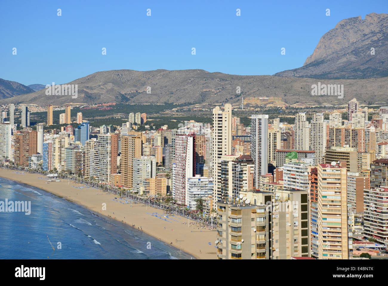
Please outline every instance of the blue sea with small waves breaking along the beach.
[[31, 214], [0, 212], [0, 259], [194, 259], [137, 228], [0, 178], [6, 199], [31, 201]]

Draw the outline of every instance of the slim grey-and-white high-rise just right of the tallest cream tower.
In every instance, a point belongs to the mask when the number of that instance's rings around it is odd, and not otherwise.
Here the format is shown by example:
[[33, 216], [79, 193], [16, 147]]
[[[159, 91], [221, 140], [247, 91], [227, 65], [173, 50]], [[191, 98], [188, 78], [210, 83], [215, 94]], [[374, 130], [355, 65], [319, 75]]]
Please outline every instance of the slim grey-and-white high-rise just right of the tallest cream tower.
[[260, 176], [268, 173], [268, 115], [251, 117], [251, 157], [255, 162], [253, 185], [257, 188]]

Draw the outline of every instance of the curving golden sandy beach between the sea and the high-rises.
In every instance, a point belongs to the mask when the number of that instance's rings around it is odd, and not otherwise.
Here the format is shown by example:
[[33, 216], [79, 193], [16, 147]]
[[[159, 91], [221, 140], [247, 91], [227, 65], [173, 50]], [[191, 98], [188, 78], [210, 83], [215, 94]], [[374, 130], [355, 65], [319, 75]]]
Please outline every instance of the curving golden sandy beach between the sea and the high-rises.
[[[129, 226], [135, 225], [135, 228], [139, 227], [139, 229], [141, 227], [145, 233], [167, 244], [172, 242], [172, 246], [178, 249], [181, 248], [182, 251], [191, 254], [193, 258], [217, 259], [217, 248], [215, 248], [214, 243], [217, 239], [217, 232], [201, 227], [198, 229], [198, 226], [195, 225], [194, 227], [189, 227], [188, 218], [169, 215], [166, 221], [161, 209], [152, 208], [142, 203], [135, 204], [132, 199], [128, 198], [120, 200], [118, 195], [102, 192], [95, 188], [85, 187], [81, 189], [85, 185], [74, 183], [67, 179], [60, 182], [46, 183], [46, 180], [43, 178], [46, 177], [45, 175], [9, 169], [0, 169], [0, 176], [40, 188], [84, 206], [95, 213], [99, 213], [99, 215], [123, 221]], [[115, 197], [117, 199], [114, 199]], [[106, 210], [103, 210], [104, 203], [106, 204]], [[158, 217], [153, 216], [153, 213], [159, 214]], [[192, 220], [190, 221], [193, 222]]]

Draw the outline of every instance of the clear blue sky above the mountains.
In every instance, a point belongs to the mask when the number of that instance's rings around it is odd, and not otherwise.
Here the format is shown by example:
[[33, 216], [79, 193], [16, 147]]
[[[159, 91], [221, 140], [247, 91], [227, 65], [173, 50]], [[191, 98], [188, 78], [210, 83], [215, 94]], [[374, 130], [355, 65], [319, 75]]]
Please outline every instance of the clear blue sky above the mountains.
[[302, 66], [342, 19], [372, 12], [387, 13], [388, 1], [2, 1], [0, 78], [62, 84], [104, 70], [195, 68], [272, 75]]

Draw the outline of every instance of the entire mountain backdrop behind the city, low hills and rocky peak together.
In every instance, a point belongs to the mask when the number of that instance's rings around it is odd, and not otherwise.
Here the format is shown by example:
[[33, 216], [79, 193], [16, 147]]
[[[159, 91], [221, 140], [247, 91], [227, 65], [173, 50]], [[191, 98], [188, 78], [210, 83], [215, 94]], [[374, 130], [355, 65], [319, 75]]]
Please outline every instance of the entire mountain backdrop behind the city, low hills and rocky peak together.
[[[27, 87], [0, 79], [0, 104], [168, 102], [189, 105], [237, 103], [241, 97], [275, 97], [289, 104], [341, 105], [357, 97], [369, 105], [386, 105], [387, 35], [388, 14], [372, 13], [364, 20], [361, 16], [342, 20], [319, 40], [302, 67], [272, 76], [205, 70], [110, 70], [69, 82], [78, 87], [76, 98], [46, 95], [44, 85]], [[314, 96], [312, 86], [320, 84], [343, 85], [343, 98]]]

